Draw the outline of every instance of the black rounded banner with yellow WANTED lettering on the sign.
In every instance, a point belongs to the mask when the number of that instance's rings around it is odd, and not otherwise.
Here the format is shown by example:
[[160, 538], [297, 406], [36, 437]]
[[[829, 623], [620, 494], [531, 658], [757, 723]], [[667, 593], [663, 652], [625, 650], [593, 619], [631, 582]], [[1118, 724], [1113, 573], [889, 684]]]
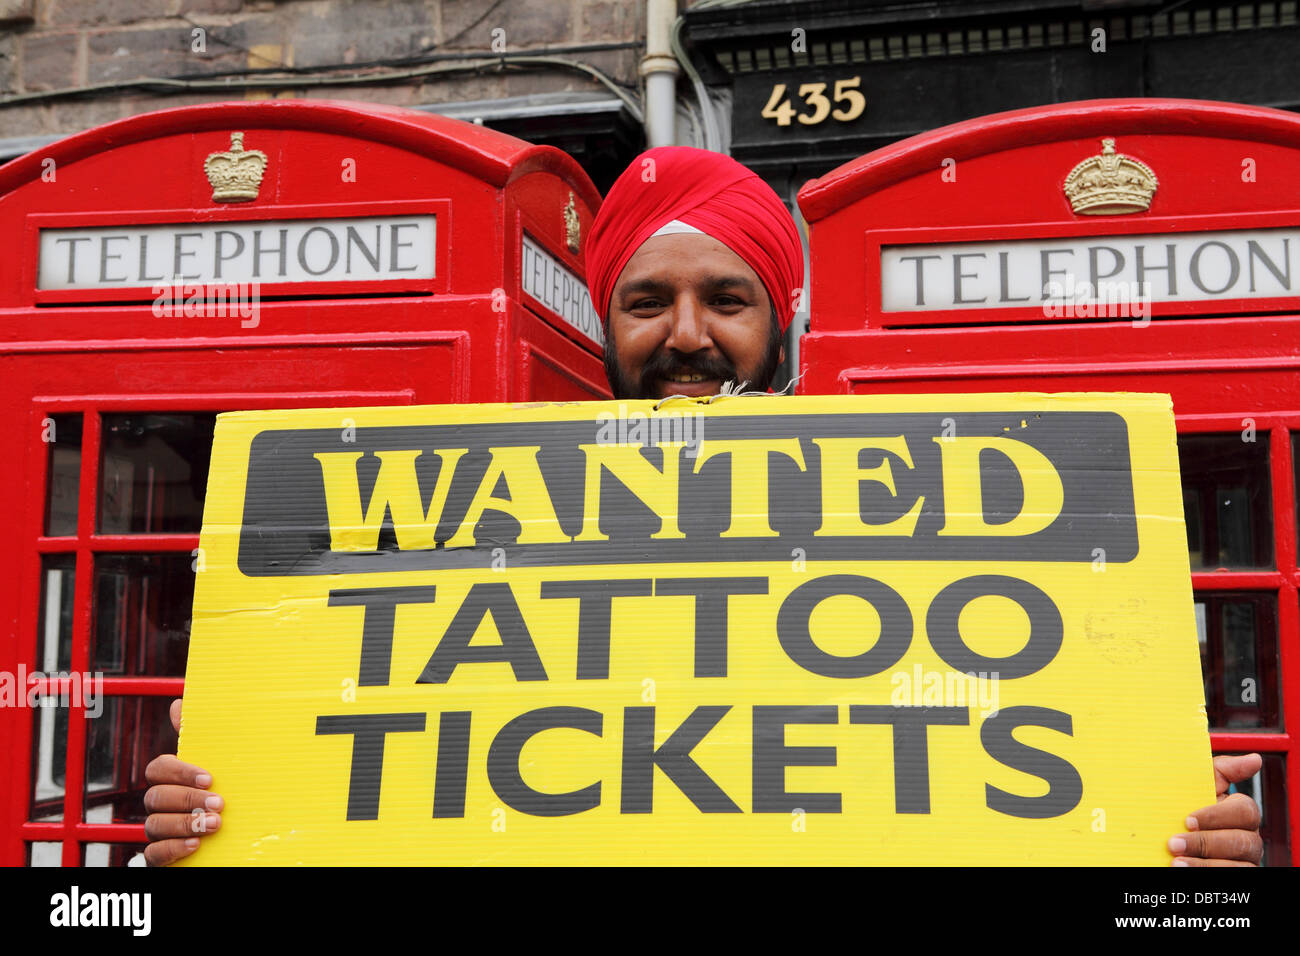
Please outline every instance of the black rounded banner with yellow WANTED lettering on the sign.
[[[789, 561], [793, 549], [810, 562], [1138, 554], [1128, 431], [1110, 412], [633, 414], [630, 427], [606, 415], [263, 432], [250, 453], [239, 568], [251, 576], [472, 568], [489, 567], [502, 550], [512, 566]], [[641, 446], [644, 462], [633, 463], [641, 479], [607, 467], [603, 450], [629, 444]], [[326, 467], [344, 477], [333, 503]], [[382, 481], [381, 467], [391, 470]], [[672, 473], [676, 515], [666, 522], [663, 481]], [[755, 516], [753, 501], [736, 507], [762, 483], [766, 515]], [[651, 484], [658, 511], [646, 503]], [[393, 501], [403, 489], [406, 506]], [[530, 507], [554, 515], [549, 537], [520, 541], [510, 511], [525, 493]], [[857, 514], [845, 510], [854, 494]], [[494, 501], [508, 503], [494, 509]], [[364, 518], [369, 538], [339, 549], [332, 533], [341, 514]], [[394, 524], [411, 515], [424, 525], [415, 548], [416, 537], [403, 540]]]

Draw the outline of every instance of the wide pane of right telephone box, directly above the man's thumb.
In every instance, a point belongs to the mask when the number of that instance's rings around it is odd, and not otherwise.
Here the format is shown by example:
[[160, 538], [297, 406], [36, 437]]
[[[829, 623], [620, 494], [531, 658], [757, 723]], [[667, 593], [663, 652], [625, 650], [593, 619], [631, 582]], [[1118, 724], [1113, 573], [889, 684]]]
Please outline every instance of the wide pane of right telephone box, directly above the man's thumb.
[[1210, 727], [1282, 727], [1277, 596], [1199, 592], [1197, 637]]

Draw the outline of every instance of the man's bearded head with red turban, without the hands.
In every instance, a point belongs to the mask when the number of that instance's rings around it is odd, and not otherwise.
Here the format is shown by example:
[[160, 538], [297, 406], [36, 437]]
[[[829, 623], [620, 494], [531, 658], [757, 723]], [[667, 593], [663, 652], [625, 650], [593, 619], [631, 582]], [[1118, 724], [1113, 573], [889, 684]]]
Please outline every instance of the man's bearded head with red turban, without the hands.
[[803, 289], [785, 204], [720, 153], [651, 150], [610, 189], [586, 239], [615, 398], [766, 389]]

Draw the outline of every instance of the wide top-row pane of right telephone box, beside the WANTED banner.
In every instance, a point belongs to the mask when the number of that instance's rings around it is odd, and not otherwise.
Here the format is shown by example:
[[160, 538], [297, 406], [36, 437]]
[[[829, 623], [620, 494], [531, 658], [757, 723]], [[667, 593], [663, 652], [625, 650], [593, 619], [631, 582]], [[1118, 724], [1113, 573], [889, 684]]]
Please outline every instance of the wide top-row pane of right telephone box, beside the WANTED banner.
[[1179, 434], [1178, 457], [1192, 567], [1273, 567], [1269, 436]]

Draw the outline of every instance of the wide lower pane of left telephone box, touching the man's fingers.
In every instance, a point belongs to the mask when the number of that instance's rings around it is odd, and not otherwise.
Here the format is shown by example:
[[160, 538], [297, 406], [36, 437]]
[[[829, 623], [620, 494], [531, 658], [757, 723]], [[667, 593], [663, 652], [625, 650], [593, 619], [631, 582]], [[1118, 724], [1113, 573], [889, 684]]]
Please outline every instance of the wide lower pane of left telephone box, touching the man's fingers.
[[170, 705], [170, 697], [104, 698], [104, 713], [86, 735], [87, 822], [144, 822], [144, 767], [160, 753], [176, 753]]

